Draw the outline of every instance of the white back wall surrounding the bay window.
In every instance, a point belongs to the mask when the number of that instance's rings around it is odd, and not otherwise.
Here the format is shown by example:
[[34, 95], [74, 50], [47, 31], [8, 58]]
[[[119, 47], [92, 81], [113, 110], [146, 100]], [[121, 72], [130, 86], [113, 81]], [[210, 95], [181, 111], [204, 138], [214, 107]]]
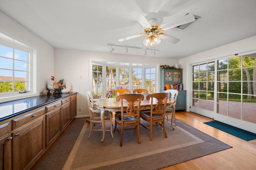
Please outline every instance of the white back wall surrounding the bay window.
[[[148, 56], [117, 55], [113, 53], [97, 53], [90, 51], [78, 51], [68, 49], [55, 49], [54, 51], [54, 77], [58, 81], [64, 78], [64, 84], [72, 84], [71, 91], [77, 94], [77, 110], [82, 107], [82, 111], [77, 111], [77, 117], [88, 116], [88, 104], [86, 92], [90, 91], [89, 80], [89, 60], [91, 61], [112, 61], [127, 63], [158, 63], [174, 66], [177, 59], [164, 59]], [[82, 76], [82, 79], [80, 79]], [[159, 84], [160, 87], [160, 84]]]

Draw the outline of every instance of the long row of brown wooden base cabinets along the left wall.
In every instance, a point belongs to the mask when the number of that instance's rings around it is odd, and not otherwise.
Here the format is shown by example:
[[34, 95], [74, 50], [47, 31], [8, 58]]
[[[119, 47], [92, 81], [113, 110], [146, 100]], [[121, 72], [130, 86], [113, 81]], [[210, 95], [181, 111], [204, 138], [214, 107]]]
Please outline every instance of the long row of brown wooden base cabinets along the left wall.
[[0, 122], [0, 170], [29, 170], [76, 117], [76, 94]]

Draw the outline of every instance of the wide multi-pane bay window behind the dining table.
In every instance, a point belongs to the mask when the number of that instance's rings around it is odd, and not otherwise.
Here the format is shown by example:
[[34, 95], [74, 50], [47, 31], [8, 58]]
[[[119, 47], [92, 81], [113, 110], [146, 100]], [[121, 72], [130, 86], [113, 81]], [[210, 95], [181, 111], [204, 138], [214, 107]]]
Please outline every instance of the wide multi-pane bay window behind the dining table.
[[[127, 64], [128, 65], [128, 64]], [[92, 63], [92, 91], [105, 97], [111, 96], [111, 91], [116, 88], [127, 88], [131, 92], [136, 88], [146, 88], [149, 93], [156, 90], [156, 67], [144, 68], [144, 66], [117, 66], [103, 63]], [[106, 75], [106, 76], [102, 76]], [[105, 82], [105, 83], [102, 83]]]

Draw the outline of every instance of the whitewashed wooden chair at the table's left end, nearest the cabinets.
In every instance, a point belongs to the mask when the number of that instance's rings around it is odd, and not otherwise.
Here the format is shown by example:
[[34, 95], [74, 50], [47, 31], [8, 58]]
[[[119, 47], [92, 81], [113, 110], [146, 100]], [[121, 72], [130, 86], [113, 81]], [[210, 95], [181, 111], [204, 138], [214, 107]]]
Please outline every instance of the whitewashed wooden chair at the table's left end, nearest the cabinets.
[[[90, 96], [90, 95], [88, 95]], [[102, 125], [100, 129], [93, 129], [96, 123], [101, 123], [101, 117], [100, 117], [100, 112], [101, 109], [97, 109], [96, 106], [94, 105], [94, 102], [92, 99], [89, 99], [87, 96], [87, 101], [88, 101], [88, 107], [89, 107], [89, 113], [90, 113], [90, 132], [88, 135], [88, 139], [90, 139], [92, 131], [103, 131]], [[104, 121], [105, 122], [110, 122], [110, 130], [105, 130], [105, 131], [110, 131], [112, 138], [114, 139], [113, 131], [112, 131], [112, 112], [110, 111], [105, 111], [104, 113]]]

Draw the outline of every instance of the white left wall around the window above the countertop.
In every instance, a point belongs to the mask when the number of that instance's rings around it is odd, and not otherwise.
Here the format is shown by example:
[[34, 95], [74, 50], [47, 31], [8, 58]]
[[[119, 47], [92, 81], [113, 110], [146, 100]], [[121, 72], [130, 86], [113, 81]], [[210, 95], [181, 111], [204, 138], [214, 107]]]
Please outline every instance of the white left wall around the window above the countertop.
[[2, 12], [0, 12], [0, 21], [2, 33], [36, 49], [37, 63], [39, 63], [37, 69], [37, 95], [42, 94], [42, 87], [47, 88], [49, 77], [54, 75], [54, 48]]

